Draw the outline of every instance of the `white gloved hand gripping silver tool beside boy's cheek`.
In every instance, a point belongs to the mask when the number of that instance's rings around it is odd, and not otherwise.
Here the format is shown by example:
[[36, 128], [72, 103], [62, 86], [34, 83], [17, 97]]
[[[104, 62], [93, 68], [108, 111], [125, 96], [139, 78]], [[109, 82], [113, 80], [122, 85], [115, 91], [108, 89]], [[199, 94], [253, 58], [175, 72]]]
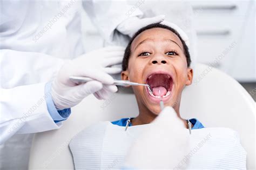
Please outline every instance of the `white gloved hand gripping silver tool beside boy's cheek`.
[[[122, 63], [124, 47], [109, 46], [98, 49], [76, 59], [68, 60], [52, 82], [51, 95], [58, 110], [77, 105], [89, 94], [98, 99], [107, 99], [117, 91], [113, 78], [109, 74], [122, 71], [120, 67], [111, 67]], [[76, 84], [70, 76], [90, 77], [92, 81]]]

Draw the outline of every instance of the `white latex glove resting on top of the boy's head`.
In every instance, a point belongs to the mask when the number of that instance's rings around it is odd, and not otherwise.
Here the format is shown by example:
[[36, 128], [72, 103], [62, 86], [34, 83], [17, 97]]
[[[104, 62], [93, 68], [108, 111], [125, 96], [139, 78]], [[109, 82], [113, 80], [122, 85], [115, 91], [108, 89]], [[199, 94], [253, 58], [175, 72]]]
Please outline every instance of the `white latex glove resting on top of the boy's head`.
[[164, 21], [165, 16], [159, 15], [152, 18], [138, 18], [138, 17], [130, 17], [127, 18], [125, 21], [120, 23], [117, 26], [117, 30], [124, 35], [128, 35], [132, 37], [139, 29], [143, 28], [144, 26], [160, 23]]

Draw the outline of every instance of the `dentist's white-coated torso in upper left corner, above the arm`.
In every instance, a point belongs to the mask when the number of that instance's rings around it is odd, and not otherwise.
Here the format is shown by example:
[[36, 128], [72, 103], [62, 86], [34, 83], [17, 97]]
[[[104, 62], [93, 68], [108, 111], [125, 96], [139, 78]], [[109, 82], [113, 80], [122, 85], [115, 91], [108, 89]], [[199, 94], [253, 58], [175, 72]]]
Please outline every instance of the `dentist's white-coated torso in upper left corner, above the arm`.
[[[0, 49], [74, 58], [84, 52], [79, 1], [4, 1]], [[22, 56], [21, 56], [22, 57]]]

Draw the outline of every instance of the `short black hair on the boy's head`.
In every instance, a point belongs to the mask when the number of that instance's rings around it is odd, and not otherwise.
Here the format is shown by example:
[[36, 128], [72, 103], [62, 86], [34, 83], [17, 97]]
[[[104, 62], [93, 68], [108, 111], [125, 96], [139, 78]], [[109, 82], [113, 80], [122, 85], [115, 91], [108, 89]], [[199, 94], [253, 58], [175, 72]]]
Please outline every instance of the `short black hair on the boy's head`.
[[152, 28], [163, 28], [163, 29], [167, 29], [167, 30], [170, 30], [172, 31], [173, 33], [175, 33], [179, 39], [181, 40], [181, 43], [183, 44], [183, 47], [184, 47], [184, 53], [185, 53], [185, 56], [186, 56], [186, 60], [187, 60], [187, 66], [189, 67], [190, 64], [191, 64], [191, 58], [190, 58], [190, 53], [188, 52], [188, 47], [186, 45], [186, 43], [184, 42], [184, 40], [180, 37], [179, 33], [174, 30], [173, 28], [171, 28], [170, 26], [167, 26], [167, 25], [163, 25], [163, 24], [160, 24], [160, 23], [156, 23], [156, 24], [150, 24], [150, 25], [147, 25], [147, 26], [144, 26], [143, 28], [139, 29], [135, 34], [134, 36], [131, 38], [129, 44], [126, 46], [126, 49], [125, 49], [125, 52], [124, 52], [124, 58], [123, 58], [123, 63], [122, 63], [122, 69], [123, 71], [125, 71], [128, 67], [128, 63], [129, 63], [129, 58], [130, 58], [130, 55], [131, 55], [131, 44], [134, 40], [134, 38], [136, 38], [140, 33], [142, 33], [143, 31], [146, 31], [146, 30], [149, 30], [149, 29], [152, 29]]

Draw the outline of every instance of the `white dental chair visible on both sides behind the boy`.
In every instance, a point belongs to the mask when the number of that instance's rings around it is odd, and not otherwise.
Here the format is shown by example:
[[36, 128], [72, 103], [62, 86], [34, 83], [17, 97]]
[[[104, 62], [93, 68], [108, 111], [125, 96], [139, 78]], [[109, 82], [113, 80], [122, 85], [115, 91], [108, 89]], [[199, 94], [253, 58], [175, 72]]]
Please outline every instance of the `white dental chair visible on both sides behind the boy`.
[[[227, 74], [203, 64], [194, 67], [193, 84], [183, 91], [181, 117], [198, 118], [206, 127], [229, 127], [240, 135], [247, 152], [247, 169], [255, 169], [255, 102], [246, 90]], [[135, 117], [134, 94], [123, 88], [109, 100], [85, 98], [72, 108], [59, 130], [35, 134], [29, 169], [74, 169], [70, 140], [98, 121]]]

